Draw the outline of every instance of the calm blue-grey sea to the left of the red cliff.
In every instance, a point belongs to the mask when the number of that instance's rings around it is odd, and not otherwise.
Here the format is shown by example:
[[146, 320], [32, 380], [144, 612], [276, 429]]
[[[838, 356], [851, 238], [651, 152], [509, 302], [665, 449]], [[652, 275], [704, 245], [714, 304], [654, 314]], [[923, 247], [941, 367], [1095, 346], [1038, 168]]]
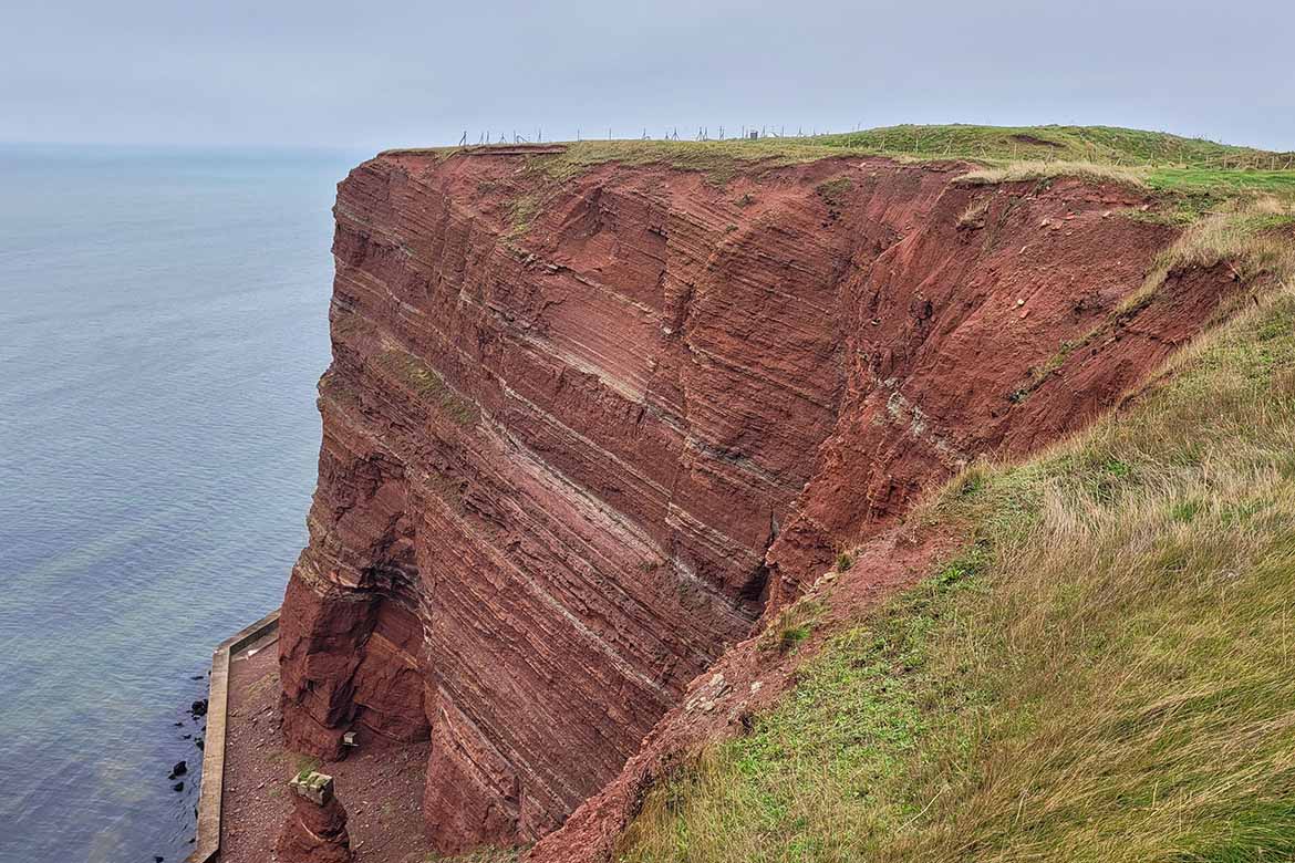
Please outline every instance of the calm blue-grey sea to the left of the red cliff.
[[192, 678], [306, 540], [359, 158], [0, 149], [0, 862], [189, 853]]

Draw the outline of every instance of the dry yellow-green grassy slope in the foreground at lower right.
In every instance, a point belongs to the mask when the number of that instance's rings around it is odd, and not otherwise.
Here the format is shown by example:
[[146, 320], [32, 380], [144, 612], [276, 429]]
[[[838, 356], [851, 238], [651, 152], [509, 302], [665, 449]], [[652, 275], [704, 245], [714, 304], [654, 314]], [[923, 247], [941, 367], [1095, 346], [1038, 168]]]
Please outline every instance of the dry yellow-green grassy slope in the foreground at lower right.
[[1173, 365], [914, 514], [965, 550], [654, 788], [619, 859], [1295, 859], [1291, 283]]

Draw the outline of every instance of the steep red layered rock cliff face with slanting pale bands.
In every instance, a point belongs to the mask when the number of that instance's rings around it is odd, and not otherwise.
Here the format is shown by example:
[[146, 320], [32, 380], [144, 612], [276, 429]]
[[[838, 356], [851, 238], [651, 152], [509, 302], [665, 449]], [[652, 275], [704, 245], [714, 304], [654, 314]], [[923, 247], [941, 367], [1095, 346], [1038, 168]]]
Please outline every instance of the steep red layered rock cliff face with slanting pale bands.
[[1228, 283], [1115, 314], [1175, 235], [1119, 188], [548, 158], [383, 154], [335, 208], [285, 734], [430, 735], [443, 851], [558, 827], [838, 549], [1088, 422]]

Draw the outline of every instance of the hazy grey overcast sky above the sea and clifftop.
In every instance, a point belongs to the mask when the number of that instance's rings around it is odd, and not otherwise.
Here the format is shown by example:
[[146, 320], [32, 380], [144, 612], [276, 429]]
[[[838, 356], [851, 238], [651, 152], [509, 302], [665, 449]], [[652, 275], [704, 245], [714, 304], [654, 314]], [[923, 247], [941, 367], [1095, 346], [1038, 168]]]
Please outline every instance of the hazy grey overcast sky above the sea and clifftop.
[[1101, 123], [1295, 150], [1292, 0], [31, 0], [0, 140]]

